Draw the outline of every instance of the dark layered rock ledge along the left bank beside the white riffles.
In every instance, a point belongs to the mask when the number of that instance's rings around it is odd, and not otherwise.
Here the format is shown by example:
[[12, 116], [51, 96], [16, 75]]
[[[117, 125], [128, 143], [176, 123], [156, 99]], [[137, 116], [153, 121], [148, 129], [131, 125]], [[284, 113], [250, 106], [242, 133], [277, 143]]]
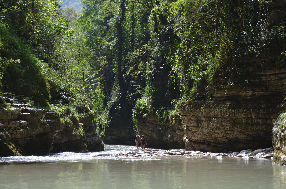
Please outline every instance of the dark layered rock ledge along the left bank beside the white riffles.
[[[27, 104], [11, 106], [14, 108], [0, 108], [1, 157], [104, 150], [104, 143], [92, 126], [92, 116], [62, 123], [54, 111]], [[77, 129], [79, 125], [82, 132]]]

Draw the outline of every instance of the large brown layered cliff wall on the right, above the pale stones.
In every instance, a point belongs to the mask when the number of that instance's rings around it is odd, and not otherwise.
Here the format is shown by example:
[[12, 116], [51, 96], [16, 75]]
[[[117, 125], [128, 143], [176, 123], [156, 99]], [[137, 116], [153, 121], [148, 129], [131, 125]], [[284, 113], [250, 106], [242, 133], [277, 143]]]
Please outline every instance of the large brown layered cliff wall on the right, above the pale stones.
[[186, 149], [227, 152], [271, 146], [285, 78], [285, 69], [257, 72], [242, 86], [216, 90], [209, 102], [182, 104]]

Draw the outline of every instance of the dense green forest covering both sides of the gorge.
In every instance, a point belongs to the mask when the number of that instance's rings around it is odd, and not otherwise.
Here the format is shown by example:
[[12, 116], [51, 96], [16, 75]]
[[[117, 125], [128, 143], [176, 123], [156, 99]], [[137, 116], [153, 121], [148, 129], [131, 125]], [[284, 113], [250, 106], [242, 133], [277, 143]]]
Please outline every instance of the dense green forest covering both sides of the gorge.
[[247, 85], [253, 60], [253, 71], [285, 64], [286, 13], [271, 1], [82, 0], [81, 14], [61, 4], [0, 1], [1, 96], [93, 114], [102, 135]]

